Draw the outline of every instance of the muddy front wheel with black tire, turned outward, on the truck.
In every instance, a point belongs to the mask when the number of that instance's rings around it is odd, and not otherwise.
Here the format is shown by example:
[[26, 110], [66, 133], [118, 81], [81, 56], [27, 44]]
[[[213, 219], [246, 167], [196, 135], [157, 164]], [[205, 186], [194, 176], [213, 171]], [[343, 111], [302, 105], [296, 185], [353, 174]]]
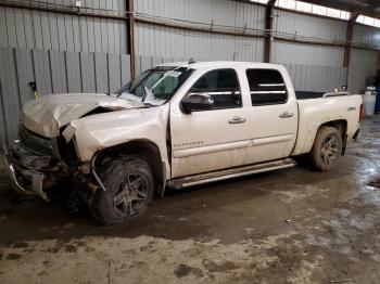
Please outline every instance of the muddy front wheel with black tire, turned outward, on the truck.
[[104, 225], [141, 215], [153, 199], [152, 170], [141, 158], [123, 156], [112, 160], [102, 167], [99, 176], [106, 191], [96, 192], [90, 211]]

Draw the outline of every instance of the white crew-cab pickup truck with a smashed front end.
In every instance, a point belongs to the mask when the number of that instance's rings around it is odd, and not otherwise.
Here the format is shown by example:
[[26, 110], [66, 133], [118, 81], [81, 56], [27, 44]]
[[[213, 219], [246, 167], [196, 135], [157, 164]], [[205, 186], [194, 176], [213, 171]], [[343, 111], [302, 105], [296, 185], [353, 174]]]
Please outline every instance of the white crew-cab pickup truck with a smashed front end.
[[93, 217], [114, 224], [165, 186], [294, 166], [308, 153], [330, 170], [359, 129], [362, 96], [297, 100], [281, 65], [169, 63], [115, 94], [46, 95], [23, 107], [3, 156], [14, 188], [47, 198], [71, 177]]

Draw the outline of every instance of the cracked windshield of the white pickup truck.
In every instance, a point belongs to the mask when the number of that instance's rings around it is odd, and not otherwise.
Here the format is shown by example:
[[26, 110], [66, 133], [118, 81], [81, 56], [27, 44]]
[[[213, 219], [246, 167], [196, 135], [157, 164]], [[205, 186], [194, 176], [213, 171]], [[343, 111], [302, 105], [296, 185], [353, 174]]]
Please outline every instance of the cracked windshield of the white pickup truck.
[[162, 105], [172, 99], [192, 73], [193, 69], [186, 67], [155, 67], [141, 73], [115, 94], [148, 106]]

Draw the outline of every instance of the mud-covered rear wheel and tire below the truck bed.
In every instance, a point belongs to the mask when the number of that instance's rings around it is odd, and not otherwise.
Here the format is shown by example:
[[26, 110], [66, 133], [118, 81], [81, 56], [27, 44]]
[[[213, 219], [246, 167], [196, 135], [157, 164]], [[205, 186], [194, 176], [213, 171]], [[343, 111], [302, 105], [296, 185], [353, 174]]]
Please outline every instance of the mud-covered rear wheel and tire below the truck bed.
[[320, 171], [328, 171], [337, 164], [342, 153], [342, 137], [337, 128], [322, 126], [315, 138], [311, 158]]

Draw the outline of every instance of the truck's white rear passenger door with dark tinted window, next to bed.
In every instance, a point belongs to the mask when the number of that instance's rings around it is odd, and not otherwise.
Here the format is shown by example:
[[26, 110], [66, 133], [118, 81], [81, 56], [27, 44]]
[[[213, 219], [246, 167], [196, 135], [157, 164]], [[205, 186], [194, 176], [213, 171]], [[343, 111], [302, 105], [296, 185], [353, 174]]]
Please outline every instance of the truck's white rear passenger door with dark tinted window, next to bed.
[[289, 156], [295, 144], [299, 115], [289, 76], [284, 69], [248, 68], [245, 78], [252, 104], [246, 112], [251, 140], [245, 164]]

